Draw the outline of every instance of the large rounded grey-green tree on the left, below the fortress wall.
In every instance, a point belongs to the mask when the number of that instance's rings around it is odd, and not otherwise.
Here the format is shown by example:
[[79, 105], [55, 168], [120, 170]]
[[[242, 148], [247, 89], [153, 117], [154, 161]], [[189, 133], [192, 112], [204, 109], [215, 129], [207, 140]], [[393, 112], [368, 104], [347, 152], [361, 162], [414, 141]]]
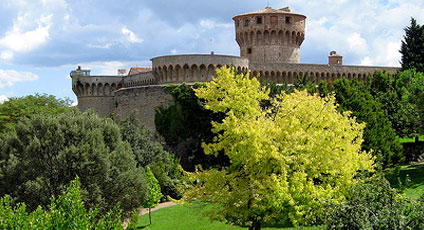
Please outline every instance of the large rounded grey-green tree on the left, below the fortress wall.
[[93, 111], [34, 115], [0, 139], [0, 196], [9, 194], [30, 210], [47, 207], [76, 176], [85, 204], [100, 213], [117, 202], [132, 211], [146, 194], [143, 169], [118, 125]]

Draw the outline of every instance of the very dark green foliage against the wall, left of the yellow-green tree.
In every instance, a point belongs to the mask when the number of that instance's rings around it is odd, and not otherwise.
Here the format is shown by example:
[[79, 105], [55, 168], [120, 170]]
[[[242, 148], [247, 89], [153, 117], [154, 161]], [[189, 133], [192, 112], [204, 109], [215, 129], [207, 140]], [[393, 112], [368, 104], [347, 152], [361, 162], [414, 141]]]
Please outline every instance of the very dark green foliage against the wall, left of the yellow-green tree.
[[222, 120], [223, 114], [214, 114], [203, 108], [192, 87], [203, 87], [203, 84], [166, 87], [166, 92], [174, 98], [174, 104], [156, 111], [156, 130], [185, 170], [193, 171], [199, 164], [204, 168], [226, 165], [228, 158], [224, 154], [217, 157], [205, 155], [201, 147], [202, 142], [213, 140], [215, 135], [211, 132], [211, 122]]

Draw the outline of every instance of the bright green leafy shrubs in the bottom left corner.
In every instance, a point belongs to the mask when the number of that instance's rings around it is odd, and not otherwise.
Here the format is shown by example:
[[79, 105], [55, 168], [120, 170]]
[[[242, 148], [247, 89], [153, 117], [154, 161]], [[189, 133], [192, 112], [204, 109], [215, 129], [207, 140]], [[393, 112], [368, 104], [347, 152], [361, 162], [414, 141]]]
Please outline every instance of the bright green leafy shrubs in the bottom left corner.
[[1, 229], [124, 229], [118, 205], [102, 216], [96, 209], [86, 210], [79, 178], [71, 181], [59, 197], [52, 197], [46, 210], [38, 207], [28, 213], [25, 203], [12, 203], [10, 196], [0, 199]]

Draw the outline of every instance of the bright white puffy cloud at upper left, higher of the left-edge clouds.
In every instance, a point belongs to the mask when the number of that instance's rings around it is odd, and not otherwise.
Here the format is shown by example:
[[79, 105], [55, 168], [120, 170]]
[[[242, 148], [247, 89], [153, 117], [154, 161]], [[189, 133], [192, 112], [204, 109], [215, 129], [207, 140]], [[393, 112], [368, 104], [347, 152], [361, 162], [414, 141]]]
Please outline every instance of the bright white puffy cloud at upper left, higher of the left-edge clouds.
[[0, 39], [0, 46], [15, 52], [28, 52], [39, 47], [49, 39], [51, 18], [52, 15], [42, 15], [38, 19], [37, 28], [23, 31], [21, 26], [19, 26], [19, 22], [24, 21], [25, 18], [21, 16], [18, 17], [12, 30], [6, 32], [6, 35]]

